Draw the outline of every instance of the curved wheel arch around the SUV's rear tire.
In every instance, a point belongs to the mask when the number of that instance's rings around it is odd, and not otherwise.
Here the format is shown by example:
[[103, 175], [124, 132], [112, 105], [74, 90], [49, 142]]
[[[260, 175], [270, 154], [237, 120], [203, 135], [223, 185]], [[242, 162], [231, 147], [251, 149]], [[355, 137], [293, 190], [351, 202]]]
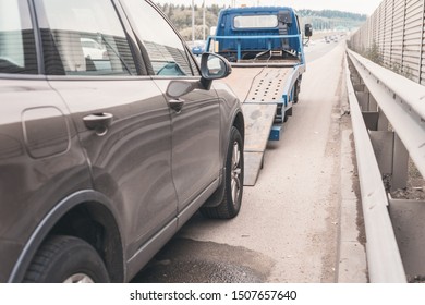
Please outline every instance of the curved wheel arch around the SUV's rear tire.
[[123, 242], [117, 211], [105, 195], [86, 190], [61, 200], [39, 222], [21, 252], [9, 282], [22, 282], [33, 257], [51, 234], [71, 235], [88, 242], [102, 258], [110, 280], [124, 281]]

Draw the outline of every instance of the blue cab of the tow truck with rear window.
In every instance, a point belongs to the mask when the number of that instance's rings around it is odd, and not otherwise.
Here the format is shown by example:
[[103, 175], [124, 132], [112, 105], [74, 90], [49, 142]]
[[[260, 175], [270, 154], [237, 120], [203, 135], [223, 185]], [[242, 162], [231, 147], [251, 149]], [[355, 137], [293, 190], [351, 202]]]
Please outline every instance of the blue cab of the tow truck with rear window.
[[[305, 36], [312, 35], [311, 25]], [[233, 65], [272, 62], [305, 64], [300, 20], [292, 8], [253, 7], [221, 10], [216, 35], [207, 50], [227, 58]]]

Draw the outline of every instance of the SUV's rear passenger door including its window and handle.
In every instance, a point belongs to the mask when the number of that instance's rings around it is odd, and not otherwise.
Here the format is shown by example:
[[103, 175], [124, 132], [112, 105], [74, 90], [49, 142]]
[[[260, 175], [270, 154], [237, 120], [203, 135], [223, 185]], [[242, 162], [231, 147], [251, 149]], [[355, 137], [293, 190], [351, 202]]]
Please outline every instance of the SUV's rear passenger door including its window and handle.
[[[118, 211], [124, 258], [138, 266], [143, 245], [177, 228], [170, 113], [150, 77], [137, 75], [138, 50], [117, 10], [111, 0], [37, 0], [49, 83], [72, 112], [95, 190]], [[83, 49], [90, 40], [101, 56]]]

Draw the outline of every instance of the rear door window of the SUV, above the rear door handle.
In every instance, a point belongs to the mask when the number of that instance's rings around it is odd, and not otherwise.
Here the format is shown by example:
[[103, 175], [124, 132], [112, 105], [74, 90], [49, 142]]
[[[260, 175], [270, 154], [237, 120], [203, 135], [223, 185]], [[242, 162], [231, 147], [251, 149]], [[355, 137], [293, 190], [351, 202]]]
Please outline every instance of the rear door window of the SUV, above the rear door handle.
[[39, 0], [48, 75], [134, 75], [132, 51], [110, 0]]

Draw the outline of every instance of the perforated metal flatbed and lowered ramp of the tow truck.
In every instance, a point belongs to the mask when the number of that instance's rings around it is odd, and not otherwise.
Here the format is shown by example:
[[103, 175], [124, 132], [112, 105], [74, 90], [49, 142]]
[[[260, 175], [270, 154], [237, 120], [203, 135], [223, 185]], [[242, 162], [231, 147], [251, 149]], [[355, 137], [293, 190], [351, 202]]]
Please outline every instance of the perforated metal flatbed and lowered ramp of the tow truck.
[[282, 103], [283, 85], [292, 68], [233, 68], [223, 80], [242, 102], [245, 117], [244, 185], [255, 185], [263, 167], [264, 152]]

